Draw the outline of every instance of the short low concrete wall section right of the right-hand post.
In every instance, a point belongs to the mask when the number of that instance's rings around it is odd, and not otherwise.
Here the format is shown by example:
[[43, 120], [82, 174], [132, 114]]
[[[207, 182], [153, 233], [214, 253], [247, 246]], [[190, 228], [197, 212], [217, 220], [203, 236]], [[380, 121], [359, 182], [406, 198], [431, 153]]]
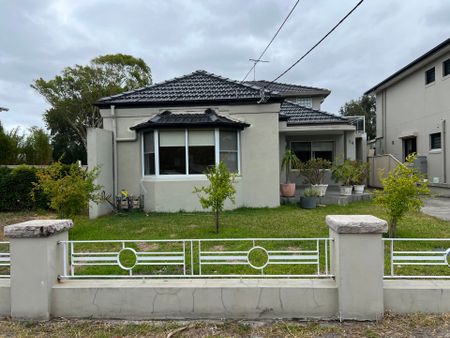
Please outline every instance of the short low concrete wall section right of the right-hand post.
[[384, 308], [402, 314], [450, 312], [450, 281], [384, 281]]

